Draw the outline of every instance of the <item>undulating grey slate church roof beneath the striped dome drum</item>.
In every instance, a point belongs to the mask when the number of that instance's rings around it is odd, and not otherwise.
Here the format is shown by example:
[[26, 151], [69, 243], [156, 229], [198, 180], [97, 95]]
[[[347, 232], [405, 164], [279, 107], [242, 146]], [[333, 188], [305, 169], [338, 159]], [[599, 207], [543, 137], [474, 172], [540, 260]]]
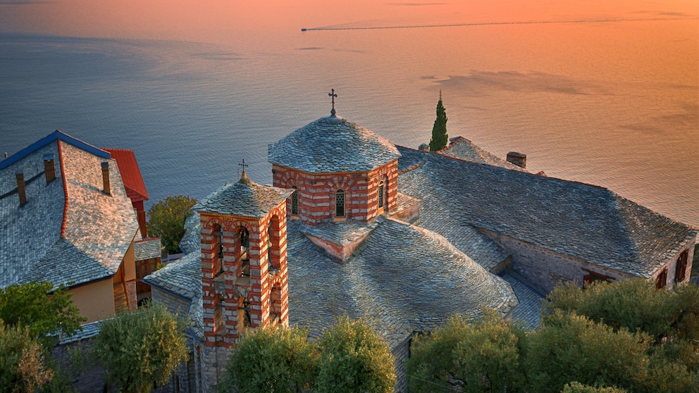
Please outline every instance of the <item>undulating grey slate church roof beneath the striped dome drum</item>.
[[[347, 315], [366, 318], [397, 347], [413, 332], [433, 330], [454, 313], [478, 316], [486, 306], [506, 314], [517, 304], [505, 280], [429, 230], [386, 218], [358, 255], [340, 264], [300, 232], [301, 223], [287, 223], [290, 323], [309, 328], [311, 337]], [[193, 300], [190, 318], [197, 334], [202, 332], [200, 257], [197, 249], [144, 277], [150, 285]]]

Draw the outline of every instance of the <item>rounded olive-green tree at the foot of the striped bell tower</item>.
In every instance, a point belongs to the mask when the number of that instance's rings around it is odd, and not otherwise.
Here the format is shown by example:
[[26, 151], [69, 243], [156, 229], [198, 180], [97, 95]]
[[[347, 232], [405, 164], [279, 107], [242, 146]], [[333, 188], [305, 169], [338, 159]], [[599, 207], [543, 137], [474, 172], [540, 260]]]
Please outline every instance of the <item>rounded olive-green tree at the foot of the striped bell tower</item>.
[[231, 350], [218, 392], [304, 392], [314, 387], [318, 349], [307, 332], [265, 326], [249, 330]]

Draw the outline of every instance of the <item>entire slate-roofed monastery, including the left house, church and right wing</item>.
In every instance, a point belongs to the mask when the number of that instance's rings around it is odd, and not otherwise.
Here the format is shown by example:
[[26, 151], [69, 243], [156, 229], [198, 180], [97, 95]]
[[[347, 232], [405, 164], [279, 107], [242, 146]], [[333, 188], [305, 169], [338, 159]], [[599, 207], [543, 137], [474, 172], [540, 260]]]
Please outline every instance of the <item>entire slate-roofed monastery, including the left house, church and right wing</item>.
[[[190, 320], [178, 392], [214, 392], [245, 330], [318, 337], [340, 316], [364, 318], [390, 344], [403, 392], [412, 337], [455, 313], [516, 319], [560, 282], [689, 280], [696, 228], [529, 173], [523, 154], [503, 160], [463, 137], [426, 150], [341, 118], [333, 101], [330, 116], [268, 146], [272, 185], [244, 170], [200, 200], [185, 256], [154, 271], [132, 152], [56, 132], [0, 161], [0, 286], [71, 285], [90, 322], [135, 308], [137, 285], [149, 286]], [[97, 329], [85, 327], [73, 342]]]

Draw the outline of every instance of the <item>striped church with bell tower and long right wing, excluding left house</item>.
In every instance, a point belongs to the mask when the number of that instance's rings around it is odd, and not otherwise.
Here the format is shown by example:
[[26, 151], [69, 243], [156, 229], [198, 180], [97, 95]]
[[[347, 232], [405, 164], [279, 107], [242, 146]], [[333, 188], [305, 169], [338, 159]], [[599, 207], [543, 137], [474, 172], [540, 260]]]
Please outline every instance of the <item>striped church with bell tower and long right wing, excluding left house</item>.
[[388, 341], [404, 391], [413, 335], [454, 313], [523, 306], [503, 277], [540, 294], [559, 282], [688, 281], [692, 227], [602, 187], [528, 173], [521, 154], [505, 161], [464, 138], [424, 150], [333, 108], [269, 146], [272, 186], [243, 173], [199, 201], [186, 256], [144, 279], [154, 301], [192, 321], [180, 386], [212, 392], [246, 329], [299, 325], [318, 337], [350, 316]]

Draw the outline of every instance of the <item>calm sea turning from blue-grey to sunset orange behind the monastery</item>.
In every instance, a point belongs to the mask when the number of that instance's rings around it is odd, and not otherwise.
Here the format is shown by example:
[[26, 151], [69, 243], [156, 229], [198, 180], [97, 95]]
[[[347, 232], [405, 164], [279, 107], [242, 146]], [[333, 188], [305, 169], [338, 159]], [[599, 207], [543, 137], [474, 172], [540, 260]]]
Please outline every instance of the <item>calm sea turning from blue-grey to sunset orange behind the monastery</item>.
[[[416, 148], [429, 142], [441, 89], [450, 137], [519, 151], [534, 172], [699, 226], [691, 4], [526, 15], [345, 5], [348, 16], [280, 5], [234, 10], [229, 26], [219, 14], [230, 4], [190, 15], [175, 1], [168, 22], [116, 1], [10, 3], [0, 2], [0, 154], [56, 129], [133, 149], [151, 203], [206, 196], [237, 179], [243, 158], [254, 181], [271, 182], [267, 144], [327, 116], [330, 88], [340, 116]], [[124, 20], [130, 30], [119, 30]], [[523, 20], [576, 22], [300, 31]]]

